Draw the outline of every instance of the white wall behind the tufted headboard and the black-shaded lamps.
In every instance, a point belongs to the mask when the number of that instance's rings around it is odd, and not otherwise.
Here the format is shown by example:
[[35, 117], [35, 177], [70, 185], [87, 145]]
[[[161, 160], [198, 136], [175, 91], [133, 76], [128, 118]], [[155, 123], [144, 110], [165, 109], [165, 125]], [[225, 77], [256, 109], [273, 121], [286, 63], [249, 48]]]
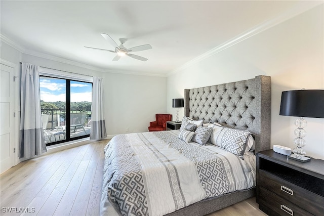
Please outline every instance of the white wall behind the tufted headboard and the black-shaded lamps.
[[[183, 97], [183, 89], [268, 75], [271, 147], [280, 144], [293, 149], [296, 117], [279, 115], [281, 92], [324, 89], [323, 11], [323, 5], [317, 6], [169, 76], [168, 112], [175, 115], [171, 101]], [[306, 120], [306, 155], [324, 159], [324, 119]]]

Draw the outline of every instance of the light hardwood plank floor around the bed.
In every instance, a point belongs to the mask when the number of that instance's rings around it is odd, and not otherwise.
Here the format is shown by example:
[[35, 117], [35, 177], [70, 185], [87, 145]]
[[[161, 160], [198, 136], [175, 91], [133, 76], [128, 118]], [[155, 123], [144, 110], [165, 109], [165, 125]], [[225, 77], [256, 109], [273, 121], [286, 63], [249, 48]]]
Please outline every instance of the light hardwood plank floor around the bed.
[[[0, 175], [0, 215], [99, 215], [106, 143], [39, 156], [4, 172]], [[266, 214], [253, 197], [209, 214], [219, 215]]]

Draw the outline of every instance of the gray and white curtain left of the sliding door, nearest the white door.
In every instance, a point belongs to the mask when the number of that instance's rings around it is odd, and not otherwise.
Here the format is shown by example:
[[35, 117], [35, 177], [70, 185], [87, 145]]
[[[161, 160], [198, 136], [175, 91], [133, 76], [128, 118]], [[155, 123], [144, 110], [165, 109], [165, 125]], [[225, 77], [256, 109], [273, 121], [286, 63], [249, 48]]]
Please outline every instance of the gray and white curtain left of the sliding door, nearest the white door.
[[39, 66], [22, 63], [20, 92], [20, 160], [46, 152], [39, 94]]

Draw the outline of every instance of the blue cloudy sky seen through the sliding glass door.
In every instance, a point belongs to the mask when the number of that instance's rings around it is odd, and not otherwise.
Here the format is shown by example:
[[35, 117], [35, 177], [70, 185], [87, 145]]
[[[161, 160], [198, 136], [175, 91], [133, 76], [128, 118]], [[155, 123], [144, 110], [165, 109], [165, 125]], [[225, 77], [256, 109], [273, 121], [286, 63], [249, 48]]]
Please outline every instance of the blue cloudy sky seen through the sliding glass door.
[[[92, 101], [92, 84], [71, 81], [71, 102]], [[65, 101], [65, 80], [40, 77], [41, 100], [45, 102]]]

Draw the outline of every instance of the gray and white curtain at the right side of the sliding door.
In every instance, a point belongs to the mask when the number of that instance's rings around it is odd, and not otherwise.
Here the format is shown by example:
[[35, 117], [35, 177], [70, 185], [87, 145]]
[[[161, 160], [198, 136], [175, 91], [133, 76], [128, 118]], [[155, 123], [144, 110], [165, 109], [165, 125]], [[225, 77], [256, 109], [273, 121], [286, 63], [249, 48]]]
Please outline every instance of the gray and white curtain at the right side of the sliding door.
[[102, 140], [107, 137], [102, 82], [102, 77], [93, 77], [90, 140]]

